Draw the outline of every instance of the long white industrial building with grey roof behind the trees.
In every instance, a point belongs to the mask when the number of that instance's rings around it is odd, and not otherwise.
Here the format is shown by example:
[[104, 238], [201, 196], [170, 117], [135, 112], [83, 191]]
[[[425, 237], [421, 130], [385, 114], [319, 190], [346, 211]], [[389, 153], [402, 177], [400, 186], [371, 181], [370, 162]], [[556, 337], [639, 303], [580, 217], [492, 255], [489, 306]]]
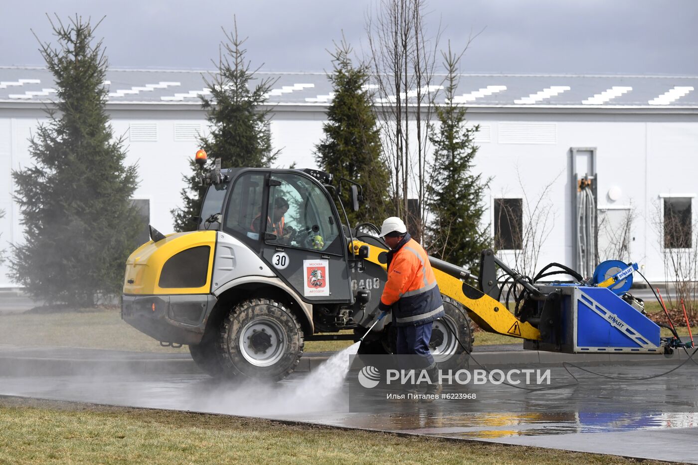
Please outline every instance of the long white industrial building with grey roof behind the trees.
[[[179, 205], [182, 173], [206, 131], [198, 96], [207, 92], [200, 71], [111, 70], [107, 111], [115, 135], [124, 135], [128, 163], [138, 163], [140, 187], [150, 222], [172, 228], [170, 210]], [[269, 94], [270, 130], [281, 149], [279, 166], [315, 166], [313, 150], [322, 138], [332, 88], [323, 73], [262, 73], [278, 78]], [[43, 68], [0, 68], [0, 250], [22, 241], [20, 212], [13, 203], [10, 170], [31, 163], [32, 128], [46, 121], [54, 82]], [[476, 170], [491, 177], [485, 223], [500, 206], [515, 214], [533, 208], [544, 188], [547, 214], [538, 268], [549, 262], [578, 269], [584, 225], [576, 221], [577, 177], [595, 177], [593, 205], [598, 233], [591, 237], [601, 259], [621, 239], [628, 247], [616, 258], [638, 262], [648, 279], [664, 279], [662, 248], [696, 247], [695, 195], [698, 192], [698, 77], [622, 75], [463, 75], [457, 101], [467, 105], [470, 124], [479, 124]], [[438, 97], [443, 101], [443, 95]], [[438, 102], [438, 100], [437, 100]], [[506, 200], [501, 200], [506, 199]], [[523, 200], [517, 200], [523, 199]], [[523, 205], [523, 207], [521, 207]], [[662, 244], [664, 209], [670, 208], [692, 235], [690, 243]], [[628, 212], [632, 210], [632, 214]], [[591, 210], [590, 210], [591, 211]], [[683, 216], [682, 216], [683, 215]], [[686, 216], [688, 215], [688, 216]], [[632, 219], [628, 234], [622, 223]], [[381, 219], [376, 219], [380, 222]], [[524, 226], [525, 228], [525, 226]], [[549, 234], [548, 234], [549, 233]], [[512, 236], [512, 235], [510, 235]], [[515, 236], [515, 235], [513, 235]], [[507, 237], [514, 249], [519, 237]], [[588, 236], [588, 235], [587, 235]], [[589, 240], [589, 237], [581, 239]], [[584, 245], [584, 244], [582, 244]], [[514, 260], [514, 251], [503, 251]], [[508, 257], [508, 258], [507, 258]], [[15, 286], [0, 265], [0, 288]]]

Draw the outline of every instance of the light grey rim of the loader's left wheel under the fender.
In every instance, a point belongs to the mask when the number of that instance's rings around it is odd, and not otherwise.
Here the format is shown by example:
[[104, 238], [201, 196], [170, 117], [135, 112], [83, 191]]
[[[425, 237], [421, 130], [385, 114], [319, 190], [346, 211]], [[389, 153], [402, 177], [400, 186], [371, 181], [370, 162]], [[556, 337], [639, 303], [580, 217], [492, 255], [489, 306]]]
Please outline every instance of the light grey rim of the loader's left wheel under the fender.
[[240, 353], [255, 367], [269, 367], [288, 351], [288, 339], [281, 324], [271, 318], [255, 318], [240, 332]]

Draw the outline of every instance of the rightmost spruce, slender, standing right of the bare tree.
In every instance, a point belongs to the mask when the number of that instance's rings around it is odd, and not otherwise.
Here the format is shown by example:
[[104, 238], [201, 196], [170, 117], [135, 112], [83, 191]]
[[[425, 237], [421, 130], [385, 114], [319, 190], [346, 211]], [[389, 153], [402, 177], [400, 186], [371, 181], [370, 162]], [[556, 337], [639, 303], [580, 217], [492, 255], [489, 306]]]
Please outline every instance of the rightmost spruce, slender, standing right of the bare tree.
[[454, 103], [460, 56], [449, 46], [443, 57], [446, 104], [436, 107], [439, 127], [438, 131], [431, 128], [429, 137], [433, 146], [432, 179], [427, 188], [429, 253], [454, 265], [473, 267], [490, 242], [487, 228], [480, 223], [489, 179], [483, 182], [482, 175], [473, 174], [478, 148], [473, 138], [479, 126], [466, 127], [466, 108]]

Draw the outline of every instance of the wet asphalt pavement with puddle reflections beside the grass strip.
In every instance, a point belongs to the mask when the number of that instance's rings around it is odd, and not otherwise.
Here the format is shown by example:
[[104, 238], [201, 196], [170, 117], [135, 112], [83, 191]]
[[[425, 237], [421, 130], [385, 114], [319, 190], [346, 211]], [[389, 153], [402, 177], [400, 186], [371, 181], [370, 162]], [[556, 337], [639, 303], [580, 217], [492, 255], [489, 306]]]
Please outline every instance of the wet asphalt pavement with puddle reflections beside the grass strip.
[[[589, 367], [610, 376], [662, 374], [676, 365]], [[339, 388], [294, 374], [276, 385], [230, 385], [202, 375], [0, 378], [0, 394], [126, 406], [251, 415], [325, 425], [537, 445], [698, 464], [698, 366], [644, 381], [616, 381], [570, 367], [528, 392], [507, 385], [449, 385], [439, 399], [395, 404], [352, 371]], [[536, 386], [531, 386], [536, 388]], [[548, 387], [543, 385], [542, 387]], [[462, 396], [461, 396], [462, 397]]]

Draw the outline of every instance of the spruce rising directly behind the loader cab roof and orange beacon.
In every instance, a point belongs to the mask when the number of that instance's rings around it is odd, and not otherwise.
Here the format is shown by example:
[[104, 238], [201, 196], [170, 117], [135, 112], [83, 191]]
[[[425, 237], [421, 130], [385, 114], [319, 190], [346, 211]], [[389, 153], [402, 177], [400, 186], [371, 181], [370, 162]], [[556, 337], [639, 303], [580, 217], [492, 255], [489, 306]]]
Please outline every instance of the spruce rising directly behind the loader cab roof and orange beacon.
[[[275, 80], [261, 80], [251, 89], [255, 71], [251, 71], [250, 62], [245, 59], [243, 45], [247, 39], [239, 38], [237, 22], [234, 24], [232, 33], [223, 31], [226, 40], [221, 43], [218, 73], [205, 79], [211, 95], [201, 96], [201, 107], [207, 112], [211, 128], [208, 137], [199, 140], [200, 147], [208, 154], [207, 170], [214, 158], [221, 158], [223, 168], [268, 168], [279, 154], [272, 151], [272, 136], [267, 126], [269, 110], [260, 109]], [[177, 231], [197, 228], [191, 219], [200, 213], [205, 193], [198, 165], [193, 159], [189, 165], [191, 172], [182, 178], [186, 183], [181, 190], [184, 208], [172, 210]]]

